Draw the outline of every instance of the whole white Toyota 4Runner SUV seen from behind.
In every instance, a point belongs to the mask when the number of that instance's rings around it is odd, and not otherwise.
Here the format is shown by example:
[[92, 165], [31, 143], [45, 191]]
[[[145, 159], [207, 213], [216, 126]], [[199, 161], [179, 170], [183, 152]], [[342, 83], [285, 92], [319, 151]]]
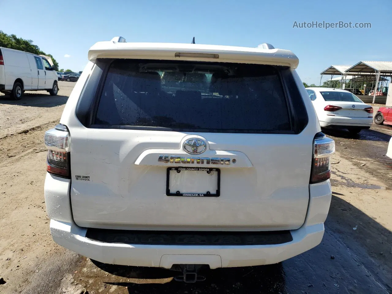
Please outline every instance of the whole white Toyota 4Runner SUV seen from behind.
[[56, 243], [185, 281], [320, 243], [335, 145], [291, 51], [117, 37], [88, 59], [45, 133]]

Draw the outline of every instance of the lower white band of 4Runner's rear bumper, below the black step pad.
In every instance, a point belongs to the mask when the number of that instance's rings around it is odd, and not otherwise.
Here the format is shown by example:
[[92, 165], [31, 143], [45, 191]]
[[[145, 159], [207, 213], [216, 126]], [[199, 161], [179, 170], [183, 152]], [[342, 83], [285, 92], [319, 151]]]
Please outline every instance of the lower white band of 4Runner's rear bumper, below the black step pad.
[[215, 269], [266, 265], [287, 260], [318, 245], [323, 238], [324, 224], [292, 230], [293, 240], [288, 243], [254, 246], [103, 243], [86, 238], [85, 228], [55, 220], [51, 220], [50, 230], [53, 240], [59, 245], [103, 263], [167, 269], [173, 264], [208, 264], [211, 269]]

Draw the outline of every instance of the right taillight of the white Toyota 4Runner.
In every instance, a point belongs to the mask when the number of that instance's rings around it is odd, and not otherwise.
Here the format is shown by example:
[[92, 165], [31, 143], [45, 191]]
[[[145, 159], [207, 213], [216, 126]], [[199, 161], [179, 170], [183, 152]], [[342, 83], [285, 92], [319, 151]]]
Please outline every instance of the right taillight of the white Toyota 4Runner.
[[335, 141], [319, 132], [313, 141], [313, 160], [310, 183], [328, 180], [331, 176], [330, 156], [335, 152]]

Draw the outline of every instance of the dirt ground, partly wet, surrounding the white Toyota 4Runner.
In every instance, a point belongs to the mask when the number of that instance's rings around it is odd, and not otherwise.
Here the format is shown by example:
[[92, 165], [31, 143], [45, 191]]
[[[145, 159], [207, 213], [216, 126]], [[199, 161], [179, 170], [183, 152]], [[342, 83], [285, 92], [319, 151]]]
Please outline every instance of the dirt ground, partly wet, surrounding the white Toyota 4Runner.
[[[44, 132], [60, 119], [74, 83], [59, 96], [0, 96], [1, 293], [390, 293], [392, 291], [392, 127], [336, 141], [332, 203], [323, 242], [279, 265], [208, 271], [185, 285], [173, 273], [102, 265], [56, 245], [44, 203]], [[334, 258], [331, 258], [334, 256]], [[1, 280], [0, 280], [1, 281]], [[87, 293], [85, 292], [85, 293]]]

